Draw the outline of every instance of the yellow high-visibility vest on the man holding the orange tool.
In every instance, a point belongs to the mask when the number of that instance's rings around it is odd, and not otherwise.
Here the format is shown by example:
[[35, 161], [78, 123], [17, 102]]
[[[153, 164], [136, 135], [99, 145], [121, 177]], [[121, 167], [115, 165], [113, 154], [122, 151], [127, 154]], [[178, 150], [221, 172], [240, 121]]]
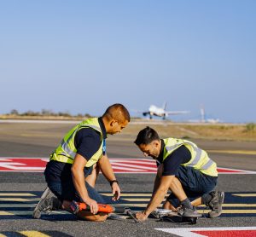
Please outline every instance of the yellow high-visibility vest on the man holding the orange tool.
[[[74, 145], [74, 137], [81, 129], [94, 129], [101, 135], [101, 146], [97, 152], [87, 161], [85, 167], [90, 167], [102, 158], [103, 152], [106, 150], [105, 140], [103, 139], [101, 126], [98, 122], [98, 118], [86, 119], [80, 124], [73, 127], [72, 130], [67, 132], [64, 136], [61, 144], [55, 149], [55, 152], [50, 155], [50, 160], [56, 160], [63, 163], [73, 164], [73, 159], [77, 153], [77, 148]], [[104, 149], [104, 151], [103, 151]]]

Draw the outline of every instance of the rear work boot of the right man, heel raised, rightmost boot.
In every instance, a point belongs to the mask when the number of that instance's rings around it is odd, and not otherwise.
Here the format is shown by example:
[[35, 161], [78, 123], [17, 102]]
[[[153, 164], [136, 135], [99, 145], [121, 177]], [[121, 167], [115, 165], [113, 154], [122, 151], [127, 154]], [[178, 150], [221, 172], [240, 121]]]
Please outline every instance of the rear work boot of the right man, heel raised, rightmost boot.
[[212, 199], [206, 205], [211, 208], [212, 211], [208, 213], [208, 217], [219, 217], [222, 212], [222, 204], [224, 203], [224, 192], [212, 191], [210, 193]]

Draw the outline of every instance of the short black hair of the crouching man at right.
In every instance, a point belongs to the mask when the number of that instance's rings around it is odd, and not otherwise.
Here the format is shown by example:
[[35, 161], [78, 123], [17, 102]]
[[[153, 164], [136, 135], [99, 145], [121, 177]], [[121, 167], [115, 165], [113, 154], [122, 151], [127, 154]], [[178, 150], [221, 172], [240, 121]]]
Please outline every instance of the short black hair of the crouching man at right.
[[143, 130], [140, 130], [134, 143], [137, 146], [139, 146], [141, 144], [148, 145], [149, 143], [153, 142], [154, 140], [160, 141], [160, 137], [154, 129], [147, 126]]

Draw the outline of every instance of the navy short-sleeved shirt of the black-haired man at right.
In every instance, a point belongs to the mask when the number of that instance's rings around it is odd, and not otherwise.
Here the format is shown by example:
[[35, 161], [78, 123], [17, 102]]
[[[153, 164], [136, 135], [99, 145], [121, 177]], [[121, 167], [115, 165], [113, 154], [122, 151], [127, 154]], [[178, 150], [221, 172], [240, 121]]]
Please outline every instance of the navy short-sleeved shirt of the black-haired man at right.
[[169, 154], [163, 161], [165, 142], [161, 139], [160, 155], [157, 158], [157, 165], [163, 164], [164, 171], [162, 176], [176, 176], [178, 167], [189, 162], [191, 153], [184, 145], [178, 147], [173, 153]]

